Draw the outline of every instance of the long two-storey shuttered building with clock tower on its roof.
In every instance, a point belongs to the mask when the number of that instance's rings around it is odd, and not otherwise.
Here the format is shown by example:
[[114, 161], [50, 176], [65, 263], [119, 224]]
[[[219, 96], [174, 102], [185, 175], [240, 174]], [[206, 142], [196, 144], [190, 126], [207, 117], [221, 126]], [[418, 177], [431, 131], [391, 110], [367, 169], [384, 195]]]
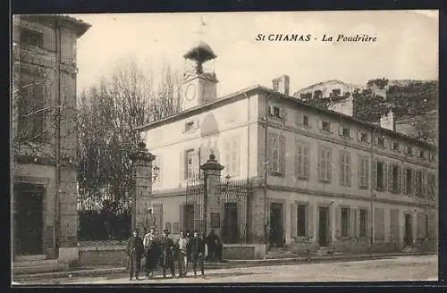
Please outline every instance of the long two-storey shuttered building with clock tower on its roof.
[[[185, 57], [198, 63], [207, 59], [194, 55], [215, 58], [209, 46], [191, 52]], [[288, 87], [277, 79], [277, 90], [254, 86], [222, 97], [216, 85], [214, 73], [188, 76], [183, 111], [138, 128], [159, 168], [146, 203], [158, 226], [174, 235], [197, 227], [205, 212], [189, 201], [189, 182], [214, 154], [223, 178], [250, 185], [245, 205], [226, 197], [218, 213], [206, 209], [207, 230], [227, 247], [391, 251], [437, 239], [433, 146], [306, 105], [281, 92]]]

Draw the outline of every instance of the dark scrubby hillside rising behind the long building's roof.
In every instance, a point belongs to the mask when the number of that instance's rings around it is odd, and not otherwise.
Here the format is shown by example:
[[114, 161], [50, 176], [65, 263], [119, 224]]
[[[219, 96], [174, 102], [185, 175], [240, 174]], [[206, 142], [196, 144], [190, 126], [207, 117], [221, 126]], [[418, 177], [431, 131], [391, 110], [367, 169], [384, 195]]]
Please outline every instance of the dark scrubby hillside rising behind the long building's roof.
[[[380, 116], [390, 110], [396, 114], [396, 119], [408, 116], [426, 117], [429, 119], [417, 119], [416, 128], [421, 132], [417, 138], [426, 141], [436, 141], [438, 109], [438, 82], [434, 80], [379, 80], [380, 86], [386, 88], [387, 98], [375, 96], [367, 87], [362, 92], [356, 92], [352, 96], [357, 101], [357, 117], [364, 121], [377, 122]], [[370, 80], [368, 86], [375, 83]], [[342, 99], [335, 97], [333, 101]], [[310, 105], [327, 109], [329, 98], [311, 99], [305, 101]]]

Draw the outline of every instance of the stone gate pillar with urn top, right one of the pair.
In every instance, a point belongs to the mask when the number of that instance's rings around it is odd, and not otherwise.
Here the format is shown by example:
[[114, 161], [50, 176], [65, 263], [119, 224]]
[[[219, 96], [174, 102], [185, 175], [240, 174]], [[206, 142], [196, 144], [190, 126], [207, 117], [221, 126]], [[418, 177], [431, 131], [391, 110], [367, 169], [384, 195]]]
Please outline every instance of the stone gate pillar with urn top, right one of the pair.
[[207, 163], [200, 166], [205, 175], [205, 227], [203, 233], [207, 234], [211, 230], [211, 217], [210, 212], [218, 208], [217, 203], [217, 186], [220, 183], [221, 172], [223, 170], [223, 165], [215, 160], [215, 155], [209, 155]]

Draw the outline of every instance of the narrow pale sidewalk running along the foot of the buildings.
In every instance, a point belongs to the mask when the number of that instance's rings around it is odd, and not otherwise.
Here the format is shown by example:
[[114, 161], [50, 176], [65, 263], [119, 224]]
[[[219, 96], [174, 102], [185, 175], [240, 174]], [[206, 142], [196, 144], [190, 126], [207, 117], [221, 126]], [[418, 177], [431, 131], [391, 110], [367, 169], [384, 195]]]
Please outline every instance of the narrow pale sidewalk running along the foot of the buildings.
[[[435, 255], [435, 253], [395, 253], [395, 254], [366, 254], [366, 255], [332, 255], [332, 256], [300, 256], [291, 258], [278, 258], [278, 259], [253, 259], [253, 260], [227, 260], [223, 263], [206, 263], [206, 270], [218, 270], [225, 268], [238, 268], [238, 267], [251, 267], [251, 266], [264, 266], [275, 264], [316, 264], [325, 262], [354, 262], [363, 260], [383, 259], [396, 256], [406, 255]], [[46, 272], [28, 275], [16, 275], [13, 276], [14, 281], [20, 280], [45, 280], [45, 279], [69, 279], [76, 277], [97, 277], [104, 275], [122, 275], [126, 274], [127, 269], [125, 267], [112, 267], [112, 266], [95, 266], [95, 267], [83, 267], [72, 269], [68, 272]]]

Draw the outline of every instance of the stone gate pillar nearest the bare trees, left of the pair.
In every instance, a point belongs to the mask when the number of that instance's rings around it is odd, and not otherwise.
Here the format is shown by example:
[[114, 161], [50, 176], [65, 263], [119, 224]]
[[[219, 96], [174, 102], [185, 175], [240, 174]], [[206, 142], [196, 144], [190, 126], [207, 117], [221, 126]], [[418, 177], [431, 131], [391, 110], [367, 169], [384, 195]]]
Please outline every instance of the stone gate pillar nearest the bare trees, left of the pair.
[[131, 227], [132, 230], [138, 229], [140, 236], [144, 232], [146, 213], [152, 196], [152, 163], [155, 159], [156, 156], [148, 152], [144, 142], [140, 142], [137, 151], [131, 155], [134, 179], [131, 194]]

